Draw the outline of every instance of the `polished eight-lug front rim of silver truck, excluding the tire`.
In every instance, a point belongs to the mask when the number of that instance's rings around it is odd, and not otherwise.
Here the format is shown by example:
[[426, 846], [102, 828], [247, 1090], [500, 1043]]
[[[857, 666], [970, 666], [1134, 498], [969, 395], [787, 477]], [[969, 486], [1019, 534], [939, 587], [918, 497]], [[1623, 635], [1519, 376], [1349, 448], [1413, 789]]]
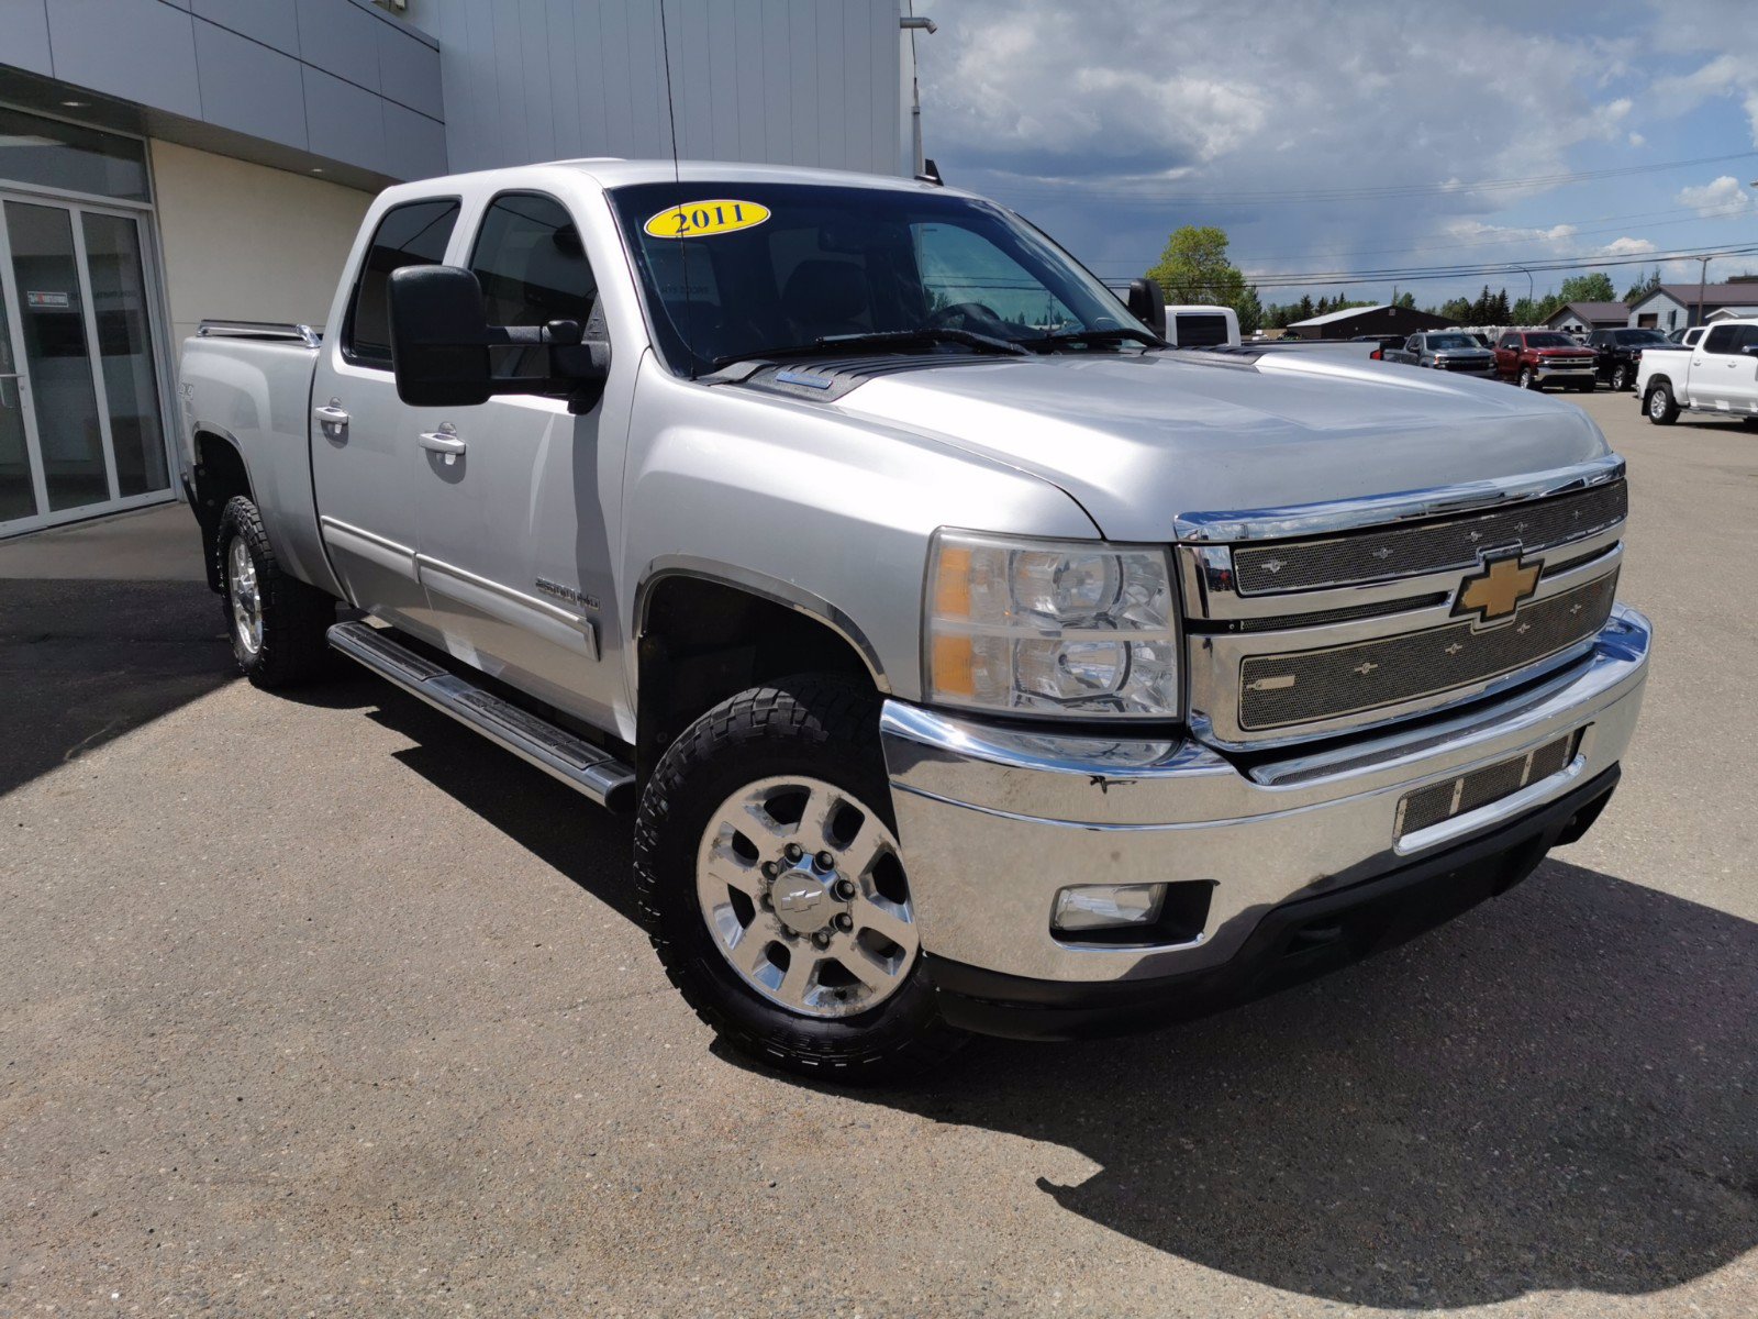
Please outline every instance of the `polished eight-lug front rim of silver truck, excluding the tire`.
[[728, 797], [701, 835], [696, 899], [733, 971], [802, 1017], [877, 1008], [916, 964], [897, 837], [823, 779], [761, 779]]

